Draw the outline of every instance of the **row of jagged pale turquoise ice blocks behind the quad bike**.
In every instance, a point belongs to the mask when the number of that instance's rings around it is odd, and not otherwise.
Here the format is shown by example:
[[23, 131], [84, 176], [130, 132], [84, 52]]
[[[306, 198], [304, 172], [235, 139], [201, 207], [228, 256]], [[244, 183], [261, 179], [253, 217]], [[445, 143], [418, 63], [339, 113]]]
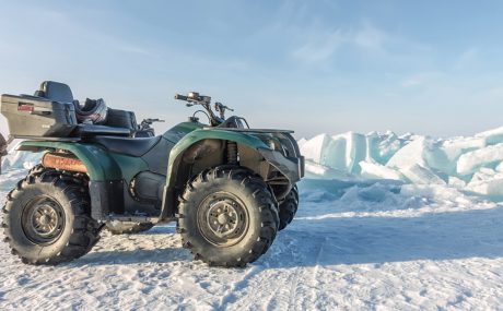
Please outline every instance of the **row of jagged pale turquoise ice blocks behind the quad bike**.
[[388, 131], [320, 134], [300, 142], [311, 178], [448, 184], [471, 195], [503, 200], [503, 127], [468, 137], [398, 136]]

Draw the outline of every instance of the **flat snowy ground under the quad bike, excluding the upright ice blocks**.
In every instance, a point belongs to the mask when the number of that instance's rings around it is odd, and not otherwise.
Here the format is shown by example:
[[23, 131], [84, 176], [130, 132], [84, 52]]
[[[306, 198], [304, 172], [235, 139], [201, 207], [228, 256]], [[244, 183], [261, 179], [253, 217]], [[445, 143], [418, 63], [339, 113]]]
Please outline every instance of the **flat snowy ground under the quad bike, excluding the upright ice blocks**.
[[[0, 196], [16, 174], [0, 183]], [[503, 205], [445, 186], [303, 181], [296, 219], [244, 270], [208, 267], [173, 226], [104, 232], [28, 266], [0, 243], [0, 310], [414, 310], [503, 306]]]

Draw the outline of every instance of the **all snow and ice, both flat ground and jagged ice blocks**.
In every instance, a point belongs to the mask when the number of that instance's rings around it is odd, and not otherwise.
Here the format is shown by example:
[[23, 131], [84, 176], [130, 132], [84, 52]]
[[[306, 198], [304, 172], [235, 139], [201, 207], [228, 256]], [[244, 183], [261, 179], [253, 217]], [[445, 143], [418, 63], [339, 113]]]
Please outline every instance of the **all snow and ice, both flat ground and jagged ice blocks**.
[[[302, 140], [309, 178], [297, 215], [245, 268], [192, 261], [173, 224], [103, 231], [87, 255], [58, 266], [22, 264], [0, 243], [0, 310], [501, 309], [500, 133]], [[0, 203], [32, 159], [13, 163]]]

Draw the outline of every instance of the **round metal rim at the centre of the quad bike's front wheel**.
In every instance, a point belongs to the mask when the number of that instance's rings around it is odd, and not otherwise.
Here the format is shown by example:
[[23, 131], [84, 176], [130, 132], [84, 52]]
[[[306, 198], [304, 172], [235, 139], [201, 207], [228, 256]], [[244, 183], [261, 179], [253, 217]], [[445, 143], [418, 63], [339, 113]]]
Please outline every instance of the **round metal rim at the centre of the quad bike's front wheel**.
[[238, 243], [248, 230], [245, 205], [229, 192], [218, 192], [199, 205], [198, 228], [207, 241], [217, 247]]

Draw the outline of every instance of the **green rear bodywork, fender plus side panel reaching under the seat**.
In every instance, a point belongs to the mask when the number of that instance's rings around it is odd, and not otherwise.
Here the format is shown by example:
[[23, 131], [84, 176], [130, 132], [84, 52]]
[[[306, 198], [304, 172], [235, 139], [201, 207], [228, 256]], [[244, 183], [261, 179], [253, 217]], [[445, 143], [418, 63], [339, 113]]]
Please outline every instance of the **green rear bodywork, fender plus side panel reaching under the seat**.
[[24, 141], [17, 149], [32, 152], [44, 152], [46, 149], [69, 151], [84, 163], [92, 181], [120, 179], [129, 181], [138, 171], [148, 169], [147, 164], [141, 158], [109, 153], [95, 144]]

